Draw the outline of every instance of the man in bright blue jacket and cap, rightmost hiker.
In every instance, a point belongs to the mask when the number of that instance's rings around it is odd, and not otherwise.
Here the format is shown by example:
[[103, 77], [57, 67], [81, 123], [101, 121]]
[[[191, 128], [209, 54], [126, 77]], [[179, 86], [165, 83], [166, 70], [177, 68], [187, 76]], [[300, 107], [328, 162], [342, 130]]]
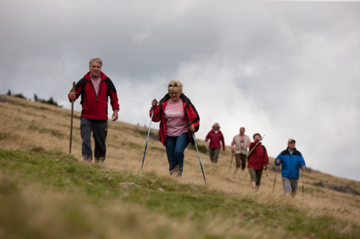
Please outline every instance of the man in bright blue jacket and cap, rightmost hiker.
[[287, 149], [279, 154], [275, 159], [275, 165], [282, 164], [282, 185], [284, 185], [284, 194], [296, 195], [298, 180], [299, 180], [299, 168], [305, 170], [305, 161], [301, 152], [297, 151], [295, 147], [295, 140], [289, 139], [287, 142]]

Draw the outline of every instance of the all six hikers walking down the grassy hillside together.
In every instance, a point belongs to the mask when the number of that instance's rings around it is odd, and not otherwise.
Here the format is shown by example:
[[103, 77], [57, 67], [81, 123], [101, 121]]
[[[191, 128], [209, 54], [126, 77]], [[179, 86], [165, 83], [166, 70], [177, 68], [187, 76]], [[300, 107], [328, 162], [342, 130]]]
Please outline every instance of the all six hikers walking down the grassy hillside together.
[[[107, 103], [110, 98], [113, 114], [112, 121], [119, 116], [119, 99], [116, 88], [102, 71], [102, 60], [92, 58], [89, 62], [89, 72], [86, 73], [68, 93], [70, 102], [81, 96], [82, 111], [80, 116], [80, 135], [82, 156], [85, 161], [92, 161], [91, 133], [95, 140], [95, 162], [104, 163], [106, 155], [105, 140], [107, 137]], [[183, 92], [183, 84], [172, 80], [167, 85], [167, 94], [159, 102], [153, 99], [149, 115], [151, 121], [160, 122], [160, 142], [166, 148], [169, 161], [169, 173], [181, 177], [184, 168], [184, 150], [189, 143], [196, 145], [194, 133], [199, 130], [200, 116], [191, 100]], [[240, 128], [239, 135], [234, 136], [231, 149], [236, 159], [236, 170], [244, 171], [248, 160], [248, 171], [251, 176], [251, 187], [258, 190], [263, 170], [268, 166], [268, 153], [261, 145], [259, 133], [253, 135], [253, 142]], [[220, 142], [225, 150], [224, 136], [220, 125], [215, 123], [205, 141], [210, 140], [209, 152], [212, 163], [217, 163], [220, 153]], [[250, 150], [250, 154], [248, 154]], [[144, 154], [145, 157], [145, 154]], [[199, 157], [200, 159], [200, 157]], [[305, 170], [305, 161], [295, 148], [295, 140], [290, 139], [288, 147], [275, 159], [275, 165], [282, 164], [282, 181], [284, 193], [294, 195], [299, 180], [299, 168]], [[205, 179], [205, 176], [204, 176]], [[205, 181], [206, 182], [206, 181]]]

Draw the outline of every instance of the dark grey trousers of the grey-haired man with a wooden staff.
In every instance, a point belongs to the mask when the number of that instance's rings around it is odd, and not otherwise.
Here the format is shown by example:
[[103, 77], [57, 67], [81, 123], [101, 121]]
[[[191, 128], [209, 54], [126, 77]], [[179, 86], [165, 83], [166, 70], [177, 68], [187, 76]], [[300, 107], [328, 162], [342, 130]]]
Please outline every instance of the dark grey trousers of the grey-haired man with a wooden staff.
[[80, 134], [83, 139], [83, 159], [92, 161], [91, 133], [95, 140], [95, 161], [104, 161], [107, 147], [107, 121], [95, 121], [89, 118], [80, 118]]

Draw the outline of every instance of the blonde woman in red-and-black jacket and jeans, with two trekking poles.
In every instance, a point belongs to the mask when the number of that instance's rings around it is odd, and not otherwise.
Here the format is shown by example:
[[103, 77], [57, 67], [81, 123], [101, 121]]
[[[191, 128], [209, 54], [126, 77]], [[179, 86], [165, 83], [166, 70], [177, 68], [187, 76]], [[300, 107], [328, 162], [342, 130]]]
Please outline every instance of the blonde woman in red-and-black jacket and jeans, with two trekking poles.
[[[184, 166], [184, 150], [191, 142], [191, 134], [199, 130], [200, 118], [195, 106], [183, 93], [183, 84], [172, 80], [167, 85], [169, 93], [151, 102], [154, 107], [152, 121], [160, 122], [160, 141], [166, 147], [170, 175], [181, 176]], [[152, 109], [150, 109], [150, 117]]]

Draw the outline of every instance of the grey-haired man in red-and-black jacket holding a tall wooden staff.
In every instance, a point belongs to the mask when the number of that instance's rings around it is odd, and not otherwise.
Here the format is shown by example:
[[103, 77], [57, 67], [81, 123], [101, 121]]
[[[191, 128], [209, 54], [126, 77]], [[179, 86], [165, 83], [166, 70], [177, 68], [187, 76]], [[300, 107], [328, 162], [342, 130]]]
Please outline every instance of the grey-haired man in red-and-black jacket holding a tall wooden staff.
[[83, 110], [80, 116], [80, 133], [83, 139], [82, 155], [85, 161], [92, 161], [91, 133], [95, 140], [95, 161], [104, 162], [106, 154], [105, 140], [107, 138], [107, 102], [110, 97], [112, 105], [112, 121], [119, 116], [119, 100], [112, 80], [101, 71], [102, 60], [92, 58], [89, 62], [89, 72], [76, 83], [75, 92], [68, 93], [71, 102], [81, 95], [80, 104]]

